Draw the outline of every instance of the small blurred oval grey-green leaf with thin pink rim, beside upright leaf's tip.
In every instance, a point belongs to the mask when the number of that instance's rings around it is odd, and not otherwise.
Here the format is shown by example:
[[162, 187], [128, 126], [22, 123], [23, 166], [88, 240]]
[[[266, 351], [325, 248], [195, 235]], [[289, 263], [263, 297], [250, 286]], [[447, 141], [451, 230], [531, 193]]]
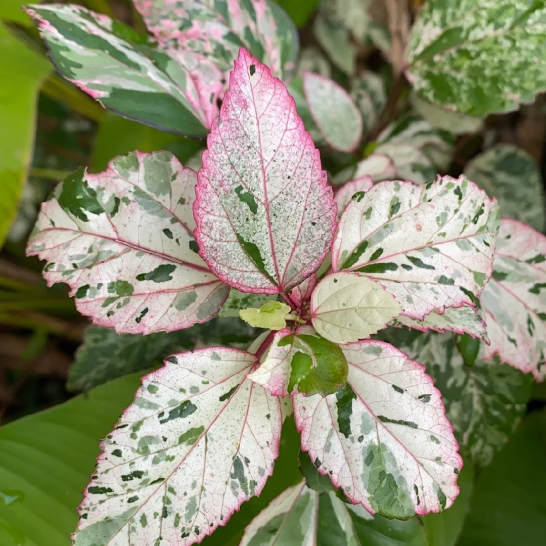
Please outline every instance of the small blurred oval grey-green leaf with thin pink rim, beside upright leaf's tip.
[[320, 74], [304, 72], [305, 98], [314, 122], [334, 150], [352, 152], [362, 138], [362, 116], [347, 91]]

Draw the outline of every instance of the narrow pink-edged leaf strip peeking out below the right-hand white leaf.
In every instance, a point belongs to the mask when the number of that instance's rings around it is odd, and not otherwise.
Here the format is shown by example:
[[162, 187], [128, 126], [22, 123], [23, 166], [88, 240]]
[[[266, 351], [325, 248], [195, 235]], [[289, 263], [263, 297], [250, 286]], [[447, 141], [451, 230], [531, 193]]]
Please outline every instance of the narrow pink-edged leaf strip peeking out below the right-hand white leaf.
[[422, 332], [433, 330], [442, 333], [451, 331], [458, 334], [470, 334], [472, 337], [479, 337], [489, 343], [481, 312], [476, 307], [469, 305], [447, 307], [443, 313], [432, 311], [422, 321], [400, 315], [396, 317], [393, 325], [414, 328]]

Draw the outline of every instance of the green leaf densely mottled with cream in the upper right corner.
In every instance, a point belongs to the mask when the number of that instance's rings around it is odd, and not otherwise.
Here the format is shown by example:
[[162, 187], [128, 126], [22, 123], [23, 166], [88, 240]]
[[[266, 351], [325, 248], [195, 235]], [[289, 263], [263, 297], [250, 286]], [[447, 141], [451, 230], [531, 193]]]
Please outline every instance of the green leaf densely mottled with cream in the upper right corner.
[[444, 108], [473, 116], [515, 110], [546, 89], [545, 38], [544, 0], [428, 2], [411, 31], [407, 76]]

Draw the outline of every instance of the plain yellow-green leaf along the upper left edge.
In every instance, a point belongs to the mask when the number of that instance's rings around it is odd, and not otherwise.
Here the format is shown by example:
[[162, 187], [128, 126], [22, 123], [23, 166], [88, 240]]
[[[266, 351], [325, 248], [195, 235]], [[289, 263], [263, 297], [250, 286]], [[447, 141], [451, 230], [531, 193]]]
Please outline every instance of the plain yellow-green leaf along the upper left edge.
[[45, 58], [0, 23], [0, 246], [15, 216], [31, 161], [36, 96], [50, 70]]

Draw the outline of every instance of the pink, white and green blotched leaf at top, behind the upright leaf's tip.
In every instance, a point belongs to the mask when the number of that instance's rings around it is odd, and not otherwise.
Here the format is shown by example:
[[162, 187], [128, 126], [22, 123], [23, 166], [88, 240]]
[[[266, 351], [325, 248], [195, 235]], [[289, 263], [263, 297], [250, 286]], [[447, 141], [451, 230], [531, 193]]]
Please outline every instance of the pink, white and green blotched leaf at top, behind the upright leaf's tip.
[[134, 0], [163, 48], [195, 51], [227, 75], [239, 48], [250, 50], [279, 78], [288, 79], [298, 56], [298, 32], [271, 0]]

